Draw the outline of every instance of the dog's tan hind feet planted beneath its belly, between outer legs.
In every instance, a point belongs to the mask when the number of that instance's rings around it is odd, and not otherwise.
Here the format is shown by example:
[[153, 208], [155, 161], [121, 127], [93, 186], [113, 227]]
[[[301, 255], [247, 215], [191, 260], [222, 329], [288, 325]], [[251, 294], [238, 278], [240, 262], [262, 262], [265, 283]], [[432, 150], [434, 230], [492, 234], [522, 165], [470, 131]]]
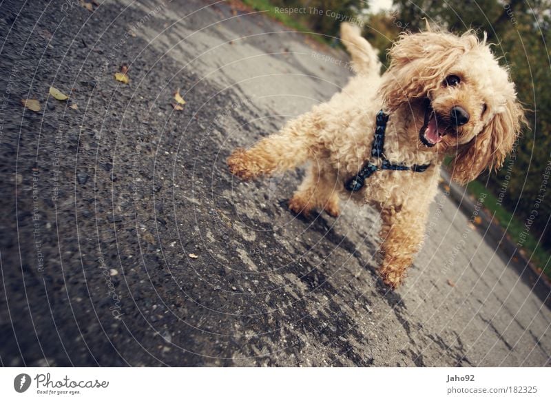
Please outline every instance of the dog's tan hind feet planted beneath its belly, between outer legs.
[[336, 185], [337, 179], [333, 174], [320, 171], [318, 165], [312, 165], [289, 200], [289, 209], [308, 216], [312, 209], [319, 208], [337, 217], [340, 210]]

